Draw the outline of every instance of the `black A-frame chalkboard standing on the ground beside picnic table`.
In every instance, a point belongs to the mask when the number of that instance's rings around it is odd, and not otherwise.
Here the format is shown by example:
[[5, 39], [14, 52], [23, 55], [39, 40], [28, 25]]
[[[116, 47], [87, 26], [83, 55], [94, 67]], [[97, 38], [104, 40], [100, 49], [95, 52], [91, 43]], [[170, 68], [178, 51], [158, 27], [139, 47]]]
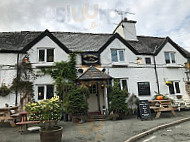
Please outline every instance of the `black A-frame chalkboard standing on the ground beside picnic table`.
[[140, 119], [144, 120], [151, 118], [151, 111], [148, 100], [139, 100], [138, 113]]

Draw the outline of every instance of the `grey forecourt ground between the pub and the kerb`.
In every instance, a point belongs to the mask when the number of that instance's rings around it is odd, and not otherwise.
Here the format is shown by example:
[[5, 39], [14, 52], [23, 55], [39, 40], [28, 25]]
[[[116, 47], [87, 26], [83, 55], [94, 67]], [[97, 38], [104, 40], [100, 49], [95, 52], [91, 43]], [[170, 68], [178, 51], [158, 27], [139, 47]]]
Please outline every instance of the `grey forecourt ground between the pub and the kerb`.
[[[173, 117], [170, 112], [161, 114], [159, 119], [141, 121], [135, 117], [119, 121], [96, 121], [84, 124], [61, 122], [63, 126], [62, 142], [123, 142], [145, 130], [189, 117], [190, 111], [177, 112]], [[19, 127], [10, 127], [9, 123], [0, 124], [0, 142], [39, 142], [39, 133], [19, 134]]]

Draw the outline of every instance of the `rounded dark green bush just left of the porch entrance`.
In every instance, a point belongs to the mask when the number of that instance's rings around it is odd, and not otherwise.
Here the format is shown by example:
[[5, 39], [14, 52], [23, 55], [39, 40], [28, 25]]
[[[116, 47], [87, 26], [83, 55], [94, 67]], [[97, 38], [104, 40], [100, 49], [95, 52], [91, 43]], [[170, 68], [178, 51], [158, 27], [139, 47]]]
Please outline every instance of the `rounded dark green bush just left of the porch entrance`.
[[89, 97], [90, 92], [88, 88], [80, 87], [77, 89], [71, 90], [64, 104], [65, 111], [68, 114], [77, 115], [77, 114], [87, 114], [88, 103], [87, 98]]

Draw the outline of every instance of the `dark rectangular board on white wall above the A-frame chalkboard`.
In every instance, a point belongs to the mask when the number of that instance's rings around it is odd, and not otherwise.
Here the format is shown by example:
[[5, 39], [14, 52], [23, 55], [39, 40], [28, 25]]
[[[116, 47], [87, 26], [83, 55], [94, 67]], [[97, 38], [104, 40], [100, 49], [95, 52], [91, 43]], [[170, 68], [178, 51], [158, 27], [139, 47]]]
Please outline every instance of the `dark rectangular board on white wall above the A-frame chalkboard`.
[[138, 82], [138, 93], [139, 96], [150, 96], [150, 83]]

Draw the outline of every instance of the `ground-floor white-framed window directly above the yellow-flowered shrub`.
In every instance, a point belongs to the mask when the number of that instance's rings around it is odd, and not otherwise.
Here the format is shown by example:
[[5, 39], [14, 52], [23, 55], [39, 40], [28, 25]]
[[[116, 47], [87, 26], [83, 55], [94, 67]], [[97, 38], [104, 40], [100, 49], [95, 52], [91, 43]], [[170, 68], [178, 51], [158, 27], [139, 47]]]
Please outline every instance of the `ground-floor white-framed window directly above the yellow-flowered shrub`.
[[38, 100], [51, 99], [54, 96], [53, 85], [38, 86]]

